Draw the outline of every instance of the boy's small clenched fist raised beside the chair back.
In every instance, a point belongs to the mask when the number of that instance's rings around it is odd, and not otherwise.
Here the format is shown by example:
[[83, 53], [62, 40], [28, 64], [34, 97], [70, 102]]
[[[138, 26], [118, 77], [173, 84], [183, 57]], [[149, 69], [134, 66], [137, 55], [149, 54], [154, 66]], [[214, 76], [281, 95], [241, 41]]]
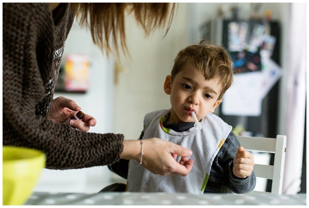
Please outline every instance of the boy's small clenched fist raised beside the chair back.
[[254, 166], [253, 155], [245, 151], [245, 149], [240, 146], [237, 149], [235, 158], [234, 158], [234, 166], [233, 166], [233, 174], [239, 178], [245, 178], [251, 175]]

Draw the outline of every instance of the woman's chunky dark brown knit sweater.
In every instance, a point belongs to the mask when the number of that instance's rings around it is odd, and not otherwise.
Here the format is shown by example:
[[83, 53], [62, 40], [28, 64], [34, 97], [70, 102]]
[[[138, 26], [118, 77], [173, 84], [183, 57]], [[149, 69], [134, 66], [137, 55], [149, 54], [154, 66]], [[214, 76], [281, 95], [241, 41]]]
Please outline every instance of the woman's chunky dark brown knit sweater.
[[112, 164], [122, 134], [78, 131], [47, 119], [63, 47], [75, 12], [63, 3], [54, 22], [48, 3], [3, 3], [3, 145], [46, 154], [46, 168]]

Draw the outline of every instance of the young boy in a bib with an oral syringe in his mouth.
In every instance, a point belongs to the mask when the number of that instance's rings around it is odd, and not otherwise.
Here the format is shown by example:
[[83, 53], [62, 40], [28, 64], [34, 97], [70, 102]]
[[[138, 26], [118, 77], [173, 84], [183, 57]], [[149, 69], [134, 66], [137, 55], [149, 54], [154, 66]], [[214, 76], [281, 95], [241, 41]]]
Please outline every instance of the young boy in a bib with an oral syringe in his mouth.
[[[213, 114], [232, 81], [233, 62], [225, 49], [200, 44], [178, 53], [164, 82], [171, 109], [146, 114], [140, 139], [157, 137], [191, 149], [193, 168], [185, 177], [160, 176], [131, 160], [127, 191], [248, 193], [254, 189], [253, 155], [240, 146], [232, 127]], [[200, 130], [194, 128], [191, 112], [201, 122]], [[173, 156], [180, 163], [188, 159]], [[109, 166], [125, 178], [127, 167], [125, 160]]]

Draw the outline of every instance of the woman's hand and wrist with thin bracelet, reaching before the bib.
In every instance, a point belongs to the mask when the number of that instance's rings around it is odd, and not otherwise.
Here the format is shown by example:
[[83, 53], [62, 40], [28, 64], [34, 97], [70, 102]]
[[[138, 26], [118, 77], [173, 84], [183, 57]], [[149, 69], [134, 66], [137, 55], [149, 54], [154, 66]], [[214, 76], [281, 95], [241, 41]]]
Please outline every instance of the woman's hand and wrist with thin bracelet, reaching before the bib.
[[[150, 172], [163, 176], [187, 176], [191, 171], [193, 159], [187, 160], [192, 155], [191, 150], [159, 138], [144, 139], [143, 142], [142, 166]], [[140, 140], [124, 140], [123, 144], [121, 158], [140, 161]], [[179, 163], [174, 159], [175, 155], [182, 157]]]

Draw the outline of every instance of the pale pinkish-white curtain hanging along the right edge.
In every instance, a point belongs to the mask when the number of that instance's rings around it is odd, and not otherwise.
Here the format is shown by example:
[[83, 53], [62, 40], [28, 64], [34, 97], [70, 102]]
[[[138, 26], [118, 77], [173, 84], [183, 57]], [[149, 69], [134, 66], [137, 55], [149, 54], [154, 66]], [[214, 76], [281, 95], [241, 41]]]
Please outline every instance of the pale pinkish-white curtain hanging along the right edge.
[[[288, 67], [284, 79], [287, 137], [282, 193], [300, 190], [306, 104], [306, 3], [291, 3], [289, 10]], [[283, 43], [285, 44], [285, 43]]]

